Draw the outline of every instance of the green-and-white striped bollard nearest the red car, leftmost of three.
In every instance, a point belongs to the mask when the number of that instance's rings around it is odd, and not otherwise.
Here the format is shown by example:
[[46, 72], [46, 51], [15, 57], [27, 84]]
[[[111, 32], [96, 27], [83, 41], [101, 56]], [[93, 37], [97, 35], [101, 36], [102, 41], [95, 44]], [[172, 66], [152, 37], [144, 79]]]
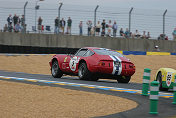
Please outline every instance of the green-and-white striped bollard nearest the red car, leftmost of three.
[[142, 95], [145, 95], [145, 96], [148, 96], [150, 73], [151, 73], [151, 70], [149, 68], [144, 69]]

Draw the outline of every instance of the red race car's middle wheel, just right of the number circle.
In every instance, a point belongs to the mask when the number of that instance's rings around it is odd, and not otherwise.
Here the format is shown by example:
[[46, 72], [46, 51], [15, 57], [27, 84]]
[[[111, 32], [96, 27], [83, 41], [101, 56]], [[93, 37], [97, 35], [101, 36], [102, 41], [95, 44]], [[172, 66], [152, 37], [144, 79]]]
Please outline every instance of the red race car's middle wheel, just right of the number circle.
[[85, 62], [81, 63], [78, 68], [78, 76], [80, 80], [97, 81], [98, 78], [88, 70]]

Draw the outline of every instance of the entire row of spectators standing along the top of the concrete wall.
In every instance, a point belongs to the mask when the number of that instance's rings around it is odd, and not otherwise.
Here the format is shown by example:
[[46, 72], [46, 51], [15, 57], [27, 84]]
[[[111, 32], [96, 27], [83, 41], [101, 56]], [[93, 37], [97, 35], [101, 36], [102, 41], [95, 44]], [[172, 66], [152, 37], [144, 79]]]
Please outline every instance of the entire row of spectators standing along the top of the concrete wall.
[[[44, 26], [42, 25], [43, 19], [41, 17], [38, 18], [38, 32], [41, 33], [44, 30]], [[71, 34], [71, 28], [72, 28], [72, 19], [68, 17], [67, 21], [62, 18], [60, 21], [58, 17], [54, 20], [55, 28], [54, 33], [62, 33], [62, 34]], [[142, 39], [150, 39], [150, 32], [143, 31], [142, 34], [136, 30], [134, 33], [129, 31], [128, 28], [124, 31], [123, 28], [119, 29], [119, 34], [117, 34], [118, 31], [118, 25], [116, 21], [109, 20], [107, 23], [105, 19], [102, 20], [102, 22], [98, 21], [96, 26], [93, 26], [93, 23], [91, 20], [88, 20], [86, 22], [87, 25], [87, 35], [88, 36], [103, 36], [103, 37], [125, 37], [125, 38], [142, 38]], [[79, 34], [83, 35], [83, 21], [80, 21], [79, 23]], [[65, 31], [66, 28], [66, 31]], [[35, 31], [36, 28], [34, 28]], [[14, 14], [12, 16], [9, 14], [7, 17], [7, 24], [4, 25], [3, 32], [26, 32], [26, 24], [24, 15], [21, 17]], [[176, 28], [172, 32], [173, 40], [176, 41]], [[158, 40], [168, 40], [168, 36], [165, 34], [160, 34], [158, 36]]]

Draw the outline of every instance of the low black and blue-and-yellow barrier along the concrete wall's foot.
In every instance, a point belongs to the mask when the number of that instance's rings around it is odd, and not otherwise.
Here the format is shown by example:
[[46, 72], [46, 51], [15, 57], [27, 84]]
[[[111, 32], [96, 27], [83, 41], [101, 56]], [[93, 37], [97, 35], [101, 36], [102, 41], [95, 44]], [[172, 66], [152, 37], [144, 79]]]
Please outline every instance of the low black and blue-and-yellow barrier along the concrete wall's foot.
[[[74, 54], [79, 48], [0, 45], [0, 53]], [[123, 55], [176, 55], [169, 52], [117, 51]]]

